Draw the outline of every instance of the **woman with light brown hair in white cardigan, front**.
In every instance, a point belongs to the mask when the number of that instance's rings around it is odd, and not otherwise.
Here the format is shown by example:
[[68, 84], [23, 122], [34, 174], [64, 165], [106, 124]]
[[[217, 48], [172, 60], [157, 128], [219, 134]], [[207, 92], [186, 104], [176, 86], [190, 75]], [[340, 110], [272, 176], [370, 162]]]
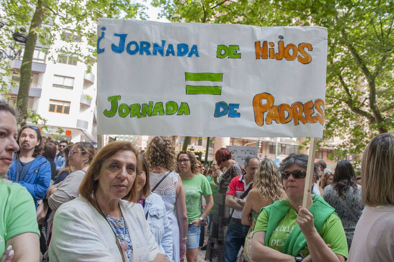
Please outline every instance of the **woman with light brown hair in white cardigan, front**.
[[56, 212], [50, 261], [168, 261], [143, 208], [132, 203], [140, 172], [139, 153], [130, 142], [100, 149], [79, 187], [81, 196]]

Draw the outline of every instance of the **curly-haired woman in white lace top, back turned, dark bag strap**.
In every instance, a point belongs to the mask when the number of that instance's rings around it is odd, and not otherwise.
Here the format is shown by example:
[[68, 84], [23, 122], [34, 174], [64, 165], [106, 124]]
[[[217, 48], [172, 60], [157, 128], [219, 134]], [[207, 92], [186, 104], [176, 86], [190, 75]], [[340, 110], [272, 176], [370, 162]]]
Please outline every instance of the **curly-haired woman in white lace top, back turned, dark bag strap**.
[[[176, 167], [175, 145], [170, 137], [154, 137], [144, 152], [144, 157], [151, 170], [149, 182], [151, 191], [162, 197], [168, 220], [172, 228], [173, 258], [183, 261], [186, 255], [186, 233], [188, 232], [188, 213], [186, 197]], [[174, 207], [177, 208], [175, 214]]]

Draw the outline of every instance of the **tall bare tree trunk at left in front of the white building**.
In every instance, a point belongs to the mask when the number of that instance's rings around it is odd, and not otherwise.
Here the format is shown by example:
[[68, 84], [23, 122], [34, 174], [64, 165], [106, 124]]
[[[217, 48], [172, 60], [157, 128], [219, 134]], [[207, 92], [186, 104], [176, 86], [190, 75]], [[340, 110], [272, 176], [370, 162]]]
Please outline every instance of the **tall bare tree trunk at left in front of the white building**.
[[17, 98], [17, 105], [21, 113], [21, 118], [18, 123], [19, 127], [26, 125], [26, 119], [28, 117], [27, 104], [29, 100], [30, 76], [32, 75], [33, 53], [35, 42], [38, 37], [38, 30], [41, 27], [41, 22], [43, 21], [44, 11], [47, 5], [48, 0], [37, 1], [37, 6], [30, 25], [28, 35], [29, 41], [26, 43], [22, 65], [20, 66], [20, 84]]

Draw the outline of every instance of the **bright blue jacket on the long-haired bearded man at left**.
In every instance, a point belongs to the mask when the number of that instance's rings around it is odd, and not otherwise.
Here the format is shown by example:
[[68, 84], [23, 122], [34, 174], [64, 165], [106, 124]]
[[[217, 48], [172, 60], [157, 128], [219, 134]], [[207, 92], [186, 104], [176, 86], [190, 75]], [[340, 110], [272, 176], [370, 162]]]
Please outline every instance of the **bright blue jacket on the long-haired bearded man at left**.
[[[9, 168], [7, 175], [11, 181], [15, 180], [15, 161]], [[26, 187], [27, 191], [32, 195], [37, 208], [37, 200], [43, 199], [46, 195], [46, 190], [50, 185], [51, 170], [50, 164], [45, 157], [38, 155], [29, 168], [28, 173], [25, 175], [22, 181], [18, 181], [21, 186]]]

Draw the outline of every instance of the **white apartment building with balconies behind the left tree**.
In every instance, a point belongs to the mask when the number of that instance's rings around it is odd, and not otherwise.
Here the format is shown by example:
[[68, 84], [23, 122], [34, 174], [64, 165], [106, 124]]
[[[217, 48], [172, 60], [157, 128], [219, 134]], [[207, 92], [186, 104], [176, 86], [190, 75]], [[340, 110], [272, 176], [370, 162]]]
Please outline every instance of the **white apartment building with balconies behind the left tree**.
[[[70, 33], [63, 34], [65, 39], [80, 41]], [[64, 42], [57, 40], [51, 50], [62, 45]], [[54, 62], [48, 59], [43, 48], [37, 43], [33, 54], [28, 108], [47, 120], [48, 130], [43, 129], [44, 134], [56, 135], [58, 139], [70, 142], [96, 143], [96, 64], [88, 73], [87, 66], [79, 62], [75, 55], [51, 52]], [[13, 70], [11, 79], [16, 82], [16, 87], [10, 87], [11, 97], [8, 99], [12, 102], [16, 100], [19, 90], [22, 57], [9, 64]], [[27, 124], [33, 124], [32, 120], [28, 119]], [[61, 134], [59, 127], [64, 130]]]

